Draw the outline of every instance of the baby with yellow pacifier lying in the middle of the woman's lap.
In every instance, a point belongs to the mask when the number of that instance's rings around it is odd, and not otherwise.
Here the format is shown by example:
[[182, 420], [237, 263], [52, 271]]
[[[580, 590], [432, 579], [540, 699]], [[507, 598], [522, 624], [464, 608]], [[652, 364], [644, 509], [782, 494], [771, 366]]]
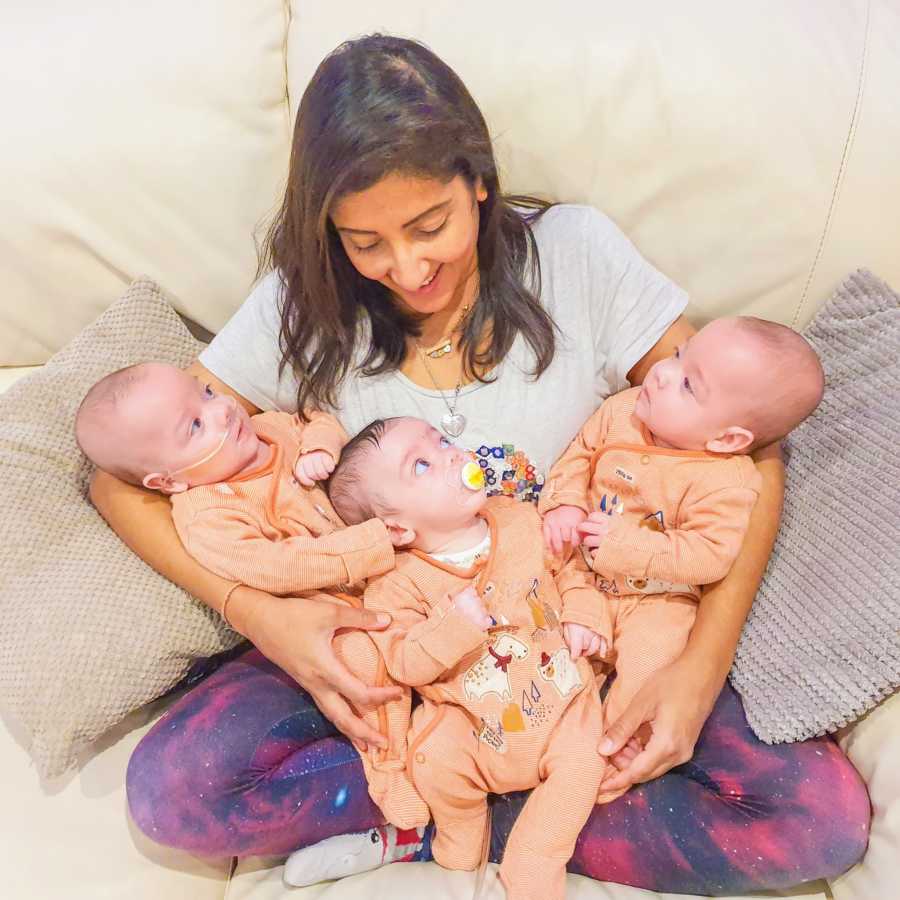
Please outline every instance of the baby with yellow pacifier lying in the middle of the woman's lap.
[[[431, 809], [434, 858], [477, 868], [487, 794], [534, 788], [500, 877], [510, 898], [552, 900], [564, 896], [566, 861], [607, 766], [583, 653], [605, 650], [602, 601], [580, 557], [561, 597], [537, 510], [488, 499], [483, 485], [467, 453], [426, 422], [398, 418], [372, 423], [344, 448], [329, 493], [344, 521], [379, 517], [405, 551], [364, 600], [392, 617], [371, 635], [388, 673], [423, 698], [411, 722], [407, 706], [387, 704], [386, 755]], [[574, 625], [590, 637], [570, 654]], [[296, 869], [289, 863], [289, 880]]]

